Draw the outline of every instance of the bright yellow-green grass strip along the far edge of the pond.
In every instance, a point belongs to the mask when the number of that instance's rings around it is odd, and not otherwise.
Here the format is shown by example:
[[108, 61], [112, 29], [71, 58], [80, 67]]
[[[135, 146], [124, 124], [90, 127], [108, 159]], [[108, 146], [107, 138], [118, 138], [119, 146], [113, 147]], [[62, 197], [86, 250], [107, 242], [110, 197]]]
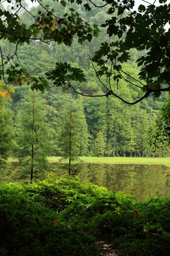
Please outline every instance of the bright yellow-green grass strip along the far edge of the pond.
[[[60, 161], [60, 156], [50, 156], [50, 163]], [[89, 164], [161, 164], [170, 167], [170, 157], [95, 157], [81, 156], [80, 159], [84, 163]], [[67, 160], [65, 160], [67, 161]]]

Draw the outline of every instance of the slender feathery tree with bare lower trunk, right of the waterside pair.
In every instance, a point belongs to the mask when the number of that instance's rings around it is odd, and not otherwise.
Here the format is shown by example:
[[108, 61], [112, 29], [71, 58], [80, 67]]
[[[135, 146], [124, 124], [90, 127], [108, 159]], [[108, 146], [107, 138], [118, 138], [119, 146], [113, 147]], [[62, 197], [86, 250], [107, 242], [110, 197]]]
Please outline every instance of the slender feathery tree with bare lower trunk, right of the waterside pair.
[[78, 160], [80, 154], [86, 154], [87, 144], [88, 131], [81, 98], [76, 102], [74, 98], [67, 97], [60, 133], [60, 151], [63, 159], [69, 159], [69, 174], [72, 162]]

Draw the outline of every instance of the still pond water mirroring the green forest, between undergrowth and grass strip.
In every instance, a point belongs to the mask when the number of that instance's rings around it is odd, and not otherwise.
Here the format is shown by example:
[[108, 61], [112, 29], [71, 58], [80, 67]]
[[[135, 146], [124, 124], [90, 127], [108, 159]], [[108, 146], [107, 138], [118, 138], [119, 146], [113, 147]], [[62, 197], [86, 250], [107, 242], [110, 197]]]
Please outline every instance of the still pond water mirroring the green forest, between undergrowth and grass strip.
[[[21, 176], [17, 163], [11, 163], [6, 171], [0, 171], [0, 182], [16, 182]], [[67, 173], [65, 164], [50, 164], [56, 177]], [[92, 182], [108, 188], [109, 191], [125, 192], [139, 201], [147, 201], [155, 196], [170, 198], [170, 168], [162, 165], [144, 164], [76, 164], [72, 174], [80, 181]], [[41, 174], [40, 179], [44, 179]], [[23, 181], [23, 179], [21, 180]], [[29, 182], [29, 178], [28, 178]]]

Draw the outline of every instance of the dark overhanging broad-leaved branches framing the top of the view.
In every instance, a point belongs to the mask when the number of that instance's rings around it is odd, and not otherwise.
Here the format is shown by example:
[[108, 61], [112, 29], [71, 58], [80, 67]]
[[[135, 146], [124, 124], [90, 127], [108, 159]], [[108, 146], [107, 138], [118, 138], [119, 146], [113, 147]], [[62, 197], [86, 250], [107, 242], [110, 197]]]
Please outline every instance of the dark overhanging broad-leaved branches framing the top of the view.
[[[34, 2], [34, 0], [32, 0]], [[29, 45], [31, 42], [41, 41], [42, 43], [55, 42], [64, 43], [71, 46], [74, 38], [78, 43], [84, 41], [91, 42], [98, 36], [100, 29], [92, 20], [84, 21], [80, 16], [80, 9], [86, 9], [89, 16], [95, 14], [94, 9], [106, 11], [106, 21], [102, 21], [100, 28], [106, 30], [110, 41], [101, 42], [101, 47], [96, 50], [91, 65], [98, 82], [104, 88], [100, 95], [88, 95], [90, 97], [108, 97], [113, 95], [125, 103], [133, 105], [154, 94], [158, 97], [161, 92], [169, 91], [170, 82], [170, 48], [169, 30], [166, 24], [169, 23], [170, 6], [167, 0], [160, 1], [160, 5], [149, 4], [147, 7], [140, 4], [138, 11], [134, 11], [135, 1], [89, 1], [83, 3], [82, 0], [69, 1], [39, 1], [37, 12], [31, 12], [21, 0], [8, 0], [11, 8], [1, 9], [0, 20], [0, 40], [6, 40], [15, 46], [13, 53], [4, 55], [4, 50], [0, 47], [1, 73], [0, 79], [4, 80], [1, 91], [4, 95], [8, 92], [9, 84], [23, 85], [27, 82], [30, 87], [44, 90], [47, 87], [45, 77], [36, 77], [24, 70], [18, 58], [18, 48], [20, 45]], [[62, 11], [57, 12], [59, 6]], [[72, 8], [73, 7], [73, 8]], [[65, 9], [64, 9], [65, 8]], [[79, 14], [80, 12], [80, 14]], [[27, 23], [22, 16], [32, 17], [32, 21]], [[61, 17], [60, 14], [63, 16]], [[60, 17], [59, 17], [60, 16]], [[112, 40], [113, 38], [113, 40]], [[136, 63], [139, 69], [139, 78], [134, 78], [130, 73], [123, 70], [123, 63], [130, 60], [132, 49], [138, 51]], [[132, 56], [133, 57], [133, 56]], [[15, 60], [14, 60], [15, 59]], [[95, 67], [94, 63], [98, 65]], [[101, 76], [106, 75], [108, 82], [103, 83]], [[125, 76], [128, 78], [125, 78]], [[48, 80], [52, 80], [55, 85], [65, 88], [72, 87], [81, 95], [86, 95], [82, 90], [74, 88], [74, 81], [84, 82], [85, 76], [80, 68], [74, 68], [70, 63], [56, 63], [53, 70], [46, 73]], [[142, 95], [139, 98], [128, 101], [119, 95], [120, 80], [128, 80], [132, 87], [139, 87]], [[117, 92], [115, 89], [117, 88]], [[87, 95], [86, 95], [87, 96]]]

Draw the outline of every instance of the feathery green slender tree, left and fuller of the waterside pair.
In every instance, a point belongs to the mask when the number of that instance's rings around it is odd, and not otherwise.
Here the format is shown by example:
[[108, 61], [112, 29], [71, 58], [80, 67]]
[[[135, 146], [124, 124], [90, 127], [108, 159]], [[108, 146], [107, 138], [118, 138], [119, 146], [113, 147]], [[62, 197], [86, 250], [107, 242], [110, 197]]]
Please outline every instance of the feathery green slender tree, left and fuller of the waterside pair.
[[30, 182], [40, 178], [48, 169], [47, 156], [50, 154], [50, 126], [47, 123], [45, 100], [38, 92], [30, 92], [21, 102], [16, 117], [16, 140], [19, 169]]

